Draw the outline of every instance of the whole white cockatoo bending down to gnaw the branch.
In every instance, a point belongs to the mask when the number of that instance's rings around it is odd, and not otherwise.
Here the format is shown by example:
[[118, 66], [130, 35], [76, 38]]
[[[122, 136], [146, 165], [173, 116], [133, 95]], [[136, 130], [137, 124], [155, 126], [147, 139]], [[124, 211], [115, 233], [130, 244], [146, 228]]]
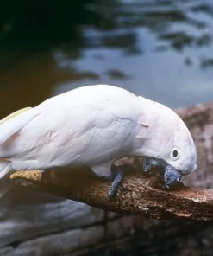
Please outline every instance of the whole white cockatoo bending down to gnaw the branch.
[[[0, 177], [14, 170], [90, 166], [110, 176], [117, 159], [145, 157], [143, 170], [165, 169], [170, 188], [197, 168], [191, 133], [172, 109], [108, 85], [47, 99], [0, 124]], [[112, 198], [122, 170], [110, 188]]]

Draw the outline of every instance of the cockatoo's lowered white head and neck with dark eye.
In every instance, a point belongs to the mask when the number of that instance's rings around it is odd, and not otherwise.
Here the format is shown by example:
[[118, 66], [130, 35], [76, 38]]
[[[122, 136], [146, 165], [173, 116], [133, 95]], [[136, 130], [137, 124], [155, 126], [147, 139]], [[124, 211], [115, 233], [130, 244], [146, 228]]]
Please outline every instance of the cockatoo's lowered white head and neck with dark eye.
[[147, 172], [154, 166], [162, 166], [166, 187], [170, 188], [197, 169], [196, 147], [185, 123], [172, 109], [148, 102], [149, 116], [139, 121], [143, 127], [138, 138], [142, 139], [142, 154], [146, 157], [143, 169]]

